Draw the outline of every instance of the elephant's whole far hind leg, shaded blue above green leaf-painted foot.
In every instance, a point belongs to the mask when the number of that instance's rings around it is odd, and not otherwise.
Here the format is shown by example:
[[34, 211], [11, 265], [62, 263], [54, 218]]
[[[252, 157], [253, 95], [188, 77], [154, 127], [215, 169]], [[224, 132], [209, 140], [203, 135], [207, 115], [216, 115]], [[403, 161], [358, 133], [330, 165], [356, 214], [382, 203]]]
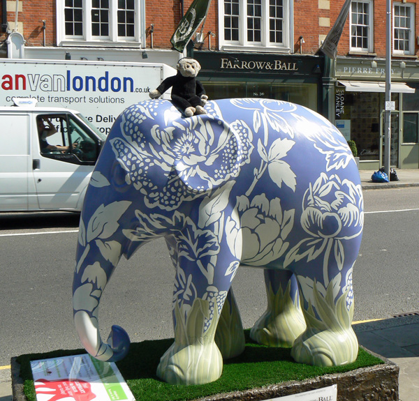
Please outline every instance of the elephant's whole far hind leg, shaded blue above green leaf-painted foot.
[[270, 347], [292, 347], [306, 324], [300, 307], [297, 280], [291, 271], [265, 269], [267, 309], [250, 336]]

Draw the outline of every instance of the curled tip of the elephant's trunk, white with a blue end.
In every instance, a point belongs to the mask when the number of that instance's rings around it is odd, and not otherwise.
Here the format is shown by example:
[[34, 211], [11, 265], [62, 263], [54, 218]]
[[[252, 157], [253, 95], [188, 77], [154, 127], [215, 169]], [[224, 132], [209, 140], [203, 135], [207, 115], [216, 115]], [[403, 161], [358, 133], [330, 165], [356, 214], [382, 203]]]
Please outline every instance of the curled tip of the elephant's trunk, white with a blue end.
[[120, 361], [128, 354], [130, 340], [121, 326], [112, 326], [107, 342], [103, 342], [95, 316], [78, 310], [74, 314], [74, 323], [84, 349], [99, 361]]

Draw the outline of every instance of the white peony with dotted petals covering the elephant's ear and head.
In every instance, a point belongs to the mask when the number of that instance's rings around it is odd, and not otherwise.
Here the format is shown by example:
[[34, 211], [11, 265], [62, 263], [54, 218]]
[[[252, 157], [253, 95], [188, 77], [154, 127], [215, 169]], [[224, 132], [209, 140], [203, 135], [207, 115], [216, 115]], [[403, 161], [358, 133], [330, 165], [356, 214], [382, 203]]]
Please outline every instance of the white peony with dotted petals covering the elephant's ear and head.
[[210, 115], [176, 119], [172, 108], [163, 113], [164, 122], [154, 114], [147, 104], [129, 107], [121, 133], [110, 139], [125, 183], [145, 196], [147, 207], [174, 210], [234, 179], [250, 162], [253, 133], [244, 121], [229, 125]]

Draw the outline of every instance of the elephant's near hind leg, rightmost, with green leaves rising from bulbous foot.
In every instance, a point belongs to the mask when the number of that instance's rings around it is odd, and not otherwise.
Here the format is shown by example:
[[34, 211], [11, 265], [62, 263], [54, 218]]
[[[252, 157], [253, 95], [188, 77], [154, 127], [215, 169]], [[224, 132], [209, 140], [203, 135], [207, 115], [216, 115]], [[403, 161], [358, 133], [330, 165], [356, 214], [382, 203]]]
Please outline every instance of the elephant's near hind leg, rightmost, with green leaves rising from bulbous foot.
[[[344, 365], [358, 357], [358, 339], [352, 329], [352, 266], [355, 258], [345, 255], [344, 266], [330, 266], [324, 277], [318, 266], [299, 264], [295, 271], [302, 294], [302, 310], [307, 328], [295, 340], [291, 356], [295, 361], [318, 366]], [[307, 271], [317, 276], [307, 277]], [[313, 274], [313, 273], [311, 273]], [[314, 273], [315, 274], [315, 273]], [[325, 280], [326, 279], [326, 280]]]

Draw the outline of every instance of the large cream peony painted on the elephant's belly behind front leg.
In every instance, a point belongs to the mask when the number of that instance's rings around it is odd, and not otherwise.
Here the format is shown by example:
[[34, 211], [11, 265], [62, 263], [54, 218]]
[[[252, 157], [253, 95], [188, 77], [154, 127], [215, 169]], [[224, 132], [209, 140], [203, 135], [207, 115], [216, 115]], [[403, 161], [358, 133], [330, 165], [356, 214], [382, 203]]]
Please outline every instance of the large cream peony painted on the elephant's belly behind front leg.
[[294, 210], [282, 211], [279, 198], [256, 195], [252, 201], [237, 197], [235, 211], [226, 221], [230, 251], [242, 264], [263, 266], [281, 257], [294, 225]]

